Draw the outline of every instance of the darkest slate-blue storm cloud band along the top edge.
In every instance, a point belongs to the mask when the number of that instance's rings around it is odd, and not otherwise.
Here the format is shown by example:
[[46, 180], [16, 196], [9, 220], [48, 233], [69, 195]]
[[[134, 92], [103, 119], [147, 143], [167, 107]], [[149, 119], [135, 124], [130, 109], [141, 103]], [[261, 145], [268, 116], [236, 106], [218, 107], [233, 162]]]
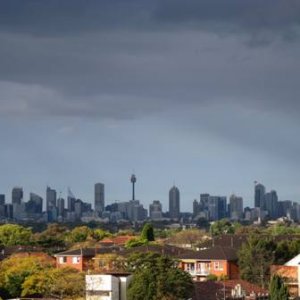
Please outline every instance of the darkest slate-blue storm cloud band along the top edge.
[[0, 11], [2, 30], [42, 35], [203, 26], [212, 31], [277, 30], [291, 37], [300, 22], [298, 0], [11, 0], [2, 1]]

